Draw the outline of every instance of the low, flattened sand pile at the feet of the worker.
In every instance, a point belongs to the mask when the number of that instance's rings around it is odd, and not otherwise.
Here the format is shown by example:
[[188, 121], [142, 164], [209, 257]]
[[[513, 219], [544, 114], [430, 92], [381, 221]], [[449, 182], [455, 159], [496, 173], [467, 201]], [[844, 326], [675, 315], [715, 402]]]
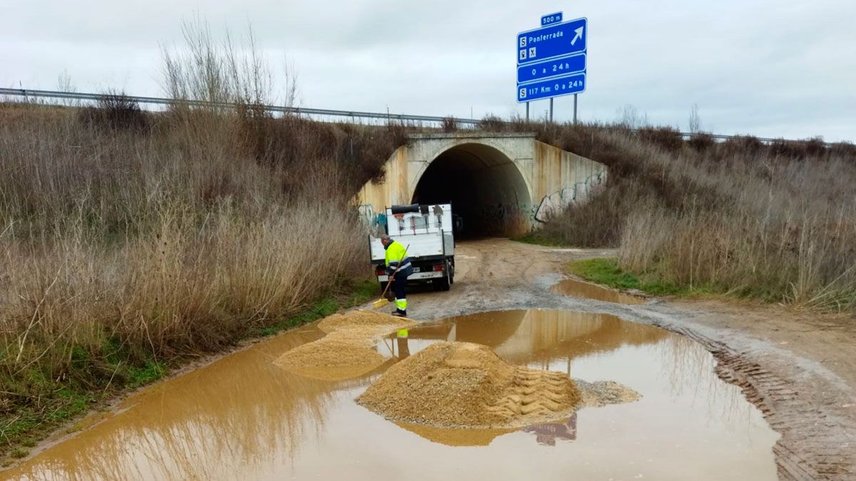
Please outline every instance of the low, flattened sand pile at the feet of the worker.
[[276, 364], [318, 379], [357, 377], [383, 364], [383, 355], [375, 349], [382, 336], [414, 325], [410, 319], [370, 311], [335, 314], [318, 323], [327, 336], [294, 347], [276, 359]]

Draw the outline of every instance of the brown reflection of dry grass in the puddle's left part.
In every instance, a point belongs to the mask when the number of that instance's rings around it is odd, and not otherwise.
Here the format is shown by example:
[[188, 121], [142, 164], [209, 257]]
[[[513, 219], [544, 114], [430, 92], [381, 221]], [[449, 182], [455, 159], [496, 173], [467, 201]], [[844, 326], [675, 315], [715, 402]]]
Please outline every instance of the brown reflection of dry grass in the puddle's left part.
[[[279, 341], [284, 352], [317, 337]], [[124, 413], [48, 450], [25, 476], [216, 478], [212, 460], [242, 460], [249, 474], [274, 453], [298, 455], [323, 423], [329, 383], [283, 374], [263, 345], [227, 359], [133, 396]]]

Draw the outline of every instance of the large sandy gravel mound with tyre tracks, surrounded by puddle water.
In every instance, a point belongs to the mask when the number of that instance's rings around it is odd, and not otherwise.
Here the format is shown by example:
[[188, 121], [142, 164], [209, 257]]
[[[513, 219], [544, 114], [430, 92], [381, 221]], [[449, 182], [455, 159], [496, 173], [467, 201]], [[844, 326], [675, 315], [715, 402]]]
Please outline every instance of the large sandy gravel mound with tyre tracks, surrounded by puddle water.
[[567, 417], [580, 392], [565, 374], [508, 365], [490, 347], [437, 342], [390, 367], [357, 401], [399, 422], [508, 428]]

